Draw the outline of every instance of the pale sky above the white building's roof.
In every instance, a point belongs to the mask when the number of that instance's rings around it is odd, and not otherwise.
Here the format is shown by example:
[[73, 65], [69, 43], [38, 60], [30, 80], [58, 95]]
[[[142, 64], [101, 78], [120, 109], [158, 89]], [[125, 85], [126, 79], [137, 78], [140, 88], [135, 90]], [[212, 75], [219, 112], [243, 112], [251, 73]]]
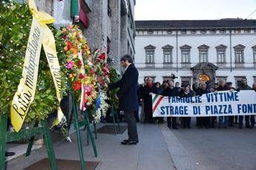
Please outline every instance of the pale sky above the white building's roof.
[[[136, 0], [135, 20], [246, 18], [256, 0]], [[256, 19], [256, 11], [247, 19]]]

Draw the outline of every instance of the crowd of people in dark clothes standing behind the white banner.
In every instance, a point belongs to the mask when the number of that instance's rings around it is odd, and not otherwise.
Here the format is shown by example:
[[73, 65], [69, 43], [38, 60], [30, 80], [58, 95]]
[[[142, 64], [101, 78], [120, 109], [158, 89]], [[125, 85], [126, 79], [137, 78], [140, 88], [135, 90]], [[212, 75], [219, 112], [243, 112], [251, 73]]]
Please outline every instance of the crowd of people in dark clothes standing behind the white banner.
[[[247, 84], [247, 79], [242, 78], [240, 85], [235, 89], [232, 86], [232, 82], [226, 82], [224, 79], [221, 79], [216, 84], [211, 84], [209, 81], [206, 83], [194, 83], [193, 86], [190, 84], [180, 84], [180, 82], [175, 82], [172, 80], [163, 81], [163, 84], [160, 82], [153, 83], [152, 78], [145, 78], [144, 83], [140, 85], [139, 88], [139, 99], [142, 104], [141, 109], [141, 118], [142, 123], [165, 123], [164, 118], [153, 118], [152, 113], [152, 99], [151, 94], [155, 93], [157, 95], [164, 95], [168, 97], [193, 97], [196, 95], [203, 95], [209, 92], [218, 92], [218, 91], [240, 91], [240, 90], [255, 90], [256, 92], [256, 83], [252, 84], [250, 87]], [[181, 86], [180, 86], [181, 85]], [[138, 119], [138, 117], [137, 117]], [[245, 126], [243, 125], [245, 119]], [[197, 117], [196, 126], [198, 128], [225, 128], [229, 126], [238, 125], [239, 129], [243, 127], [247, 129], [252, 129], [255, 127], [255, 115], [240, 115], [240, 116], [219, 116], [219, 117]], [[168, 117], [167, 126], [169, 129], [179, 129], [179, 128], [191, 128], [191, 117]]]

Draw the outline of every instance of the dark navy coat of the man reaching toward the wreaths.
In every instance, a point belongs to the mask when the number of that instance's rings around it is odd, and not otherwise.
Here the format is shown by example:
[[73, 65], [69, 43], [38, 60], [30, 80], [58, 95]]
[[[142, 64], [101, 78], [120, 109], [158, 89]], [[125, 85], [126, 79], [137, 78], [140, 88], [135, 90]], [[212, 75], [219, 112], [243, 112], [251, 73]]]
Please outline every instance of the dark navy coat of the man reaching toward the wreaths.
[[108, 89], [119, 87], [117, 97], [119, 98], [119, 109], [123, 111], [136, 111], [139, 109], [138, 103], [138, 78], [139, 72], [134, 64], [131, 64], [122, 75], [121, 80], [114, 84], [109, 84]]

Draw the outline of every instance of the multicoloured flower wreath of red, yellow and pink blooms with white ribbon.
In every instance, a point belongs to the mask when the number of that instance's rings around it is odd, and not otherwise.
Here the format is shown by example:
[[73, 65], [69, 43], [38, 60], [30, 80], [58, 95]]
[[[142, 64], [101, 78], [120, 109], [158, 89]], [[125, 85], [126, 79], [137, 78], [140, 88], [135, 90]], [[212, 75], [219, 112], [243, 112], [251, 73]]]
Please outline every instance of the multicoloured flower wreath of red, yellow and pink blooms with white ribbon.
[[69, 89], [73, 92], [74, 100], [80, 101], [79, 109], [88, 109], [97, 97], [91, 51], [82, 30], [76, 25], [62, 28], [62, 40], [65, 43], [62, 55], [65, 62], [62, 63], [62, 69], [67, 73]]

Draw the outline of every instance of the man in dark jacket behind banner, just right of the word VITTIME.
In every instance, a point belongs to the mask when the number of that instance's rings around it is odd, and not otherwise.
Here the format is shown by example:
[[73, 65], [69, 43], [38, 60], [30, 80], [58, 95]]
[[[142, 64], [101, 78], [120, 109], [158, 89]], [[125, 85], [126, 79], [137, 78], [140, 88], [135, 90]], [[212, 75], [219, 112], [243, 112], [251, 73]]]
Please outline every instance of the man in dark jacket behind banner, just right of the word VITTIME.
[[[238, 91], [240, 91], [240, 90], [252, 90], [252, 87], [248, 86], [248, 84], [247, 84], [247, 78], [242, 78], [241, 79], [241, 84], [240, 84], [240, 86], [238, 86], [237, 90]], [[250, 116], [246, 115], [245, 117], [246, 117], [246, 128], [248, 128], [248, 129], [252, 128], [249, 124]], [[238, 119], [239, 119], [238, 120], [239, 121], [239, 129], [243, 129], [243, 115], [238, 116]], [[252, 123], [252, 121], [251, 121], [251, 123]]]

